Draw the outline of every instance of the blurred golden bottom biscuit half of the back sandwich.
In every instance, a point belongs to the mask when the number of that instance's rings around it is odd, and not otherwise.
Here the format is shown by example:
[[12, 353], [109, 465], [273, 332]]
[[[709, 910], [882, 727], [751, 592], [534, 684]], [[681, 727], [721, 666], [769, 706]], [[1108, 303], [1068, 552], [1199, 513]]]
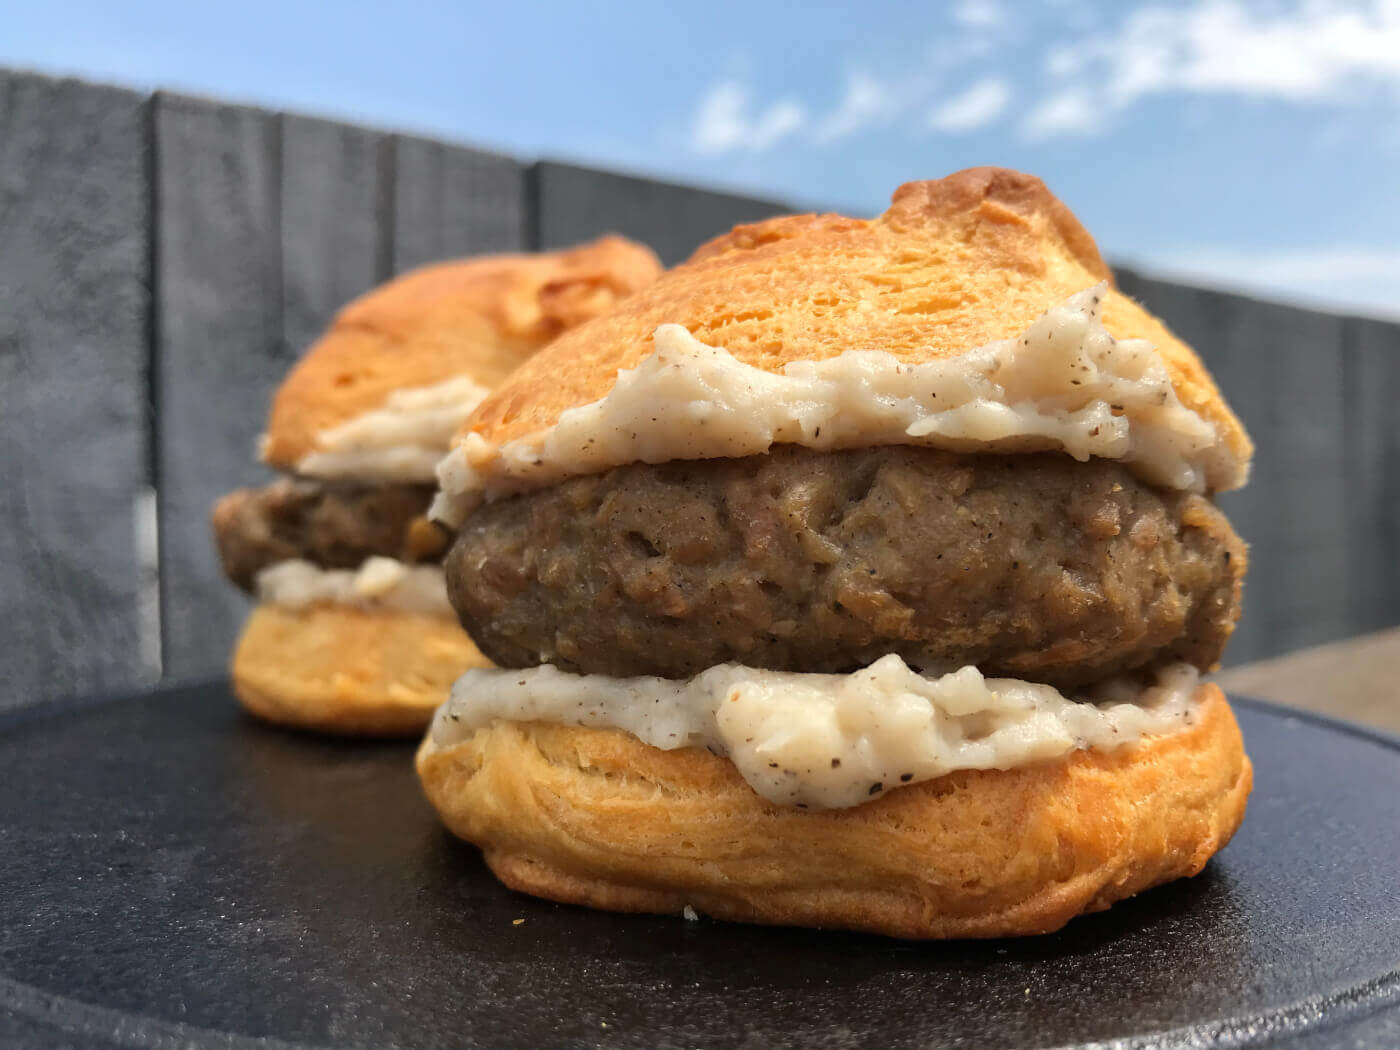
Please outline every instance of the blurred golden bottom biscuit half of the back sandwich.
[[234, 651], [234, 692], [270, 722], [356, 736], [420, 734], [452, 682], [490, 666], [455, 620], [398, 609], [262, 603]]

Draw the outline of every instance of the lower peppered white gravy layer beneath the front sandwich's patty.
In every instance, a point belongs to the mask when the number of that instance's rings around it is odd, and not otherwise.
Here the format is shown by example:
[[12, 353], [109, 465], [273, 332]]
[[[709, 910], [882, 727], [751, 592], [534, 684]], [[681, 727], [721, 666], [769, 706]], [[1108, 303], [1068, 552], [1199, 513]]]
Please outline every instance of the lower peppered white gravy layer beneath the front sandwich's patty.
[[1079, 700], [966, 666], [924, 676], [897, 655], [850, 675], [721, 664], [687, 680], [468, 671], [430, 731], [449, 746], [493, 721], [623, 729], [664, 750], [727, 756], [771, 802], [854, 806], [959, 769], [1014, 769], [1075, 749], [1112, 750], [1190, 725], [1196, 668], [1100, 685]]

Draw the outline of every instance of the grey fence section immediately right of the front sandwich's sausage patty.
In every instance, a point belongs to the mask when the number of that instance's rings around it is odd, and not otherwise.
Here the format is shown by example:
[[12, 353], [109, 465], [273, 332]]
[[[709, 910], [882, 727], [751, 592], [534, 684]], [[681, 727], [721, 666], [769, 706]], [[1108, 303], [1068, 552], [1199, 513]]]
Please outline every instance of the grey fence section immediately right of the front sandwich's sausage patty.
[[1359, 633], [1347, 575], [1343, 319], [1131, 272], [1119, 280], [1197, 350], [1254, 438], [1249, 484], [1219, 500], [1250, 543], [1226, 662]]

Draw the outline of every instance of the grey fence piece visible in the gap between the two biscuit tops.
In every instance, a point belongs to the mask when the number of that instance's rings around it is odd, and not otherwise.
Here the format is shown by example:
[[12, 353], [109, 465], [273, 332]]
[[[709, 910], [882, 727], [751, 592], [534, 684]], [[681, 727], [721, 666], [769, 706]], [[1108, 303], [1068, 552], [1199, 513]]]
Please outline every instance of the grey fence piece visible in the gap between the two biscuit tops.
[[531, 169], [536, 244], [563, 248], [608, 232], [651, 248], [666, 266], [739, 223], [792, 211], [769, 200], [542, 161]]

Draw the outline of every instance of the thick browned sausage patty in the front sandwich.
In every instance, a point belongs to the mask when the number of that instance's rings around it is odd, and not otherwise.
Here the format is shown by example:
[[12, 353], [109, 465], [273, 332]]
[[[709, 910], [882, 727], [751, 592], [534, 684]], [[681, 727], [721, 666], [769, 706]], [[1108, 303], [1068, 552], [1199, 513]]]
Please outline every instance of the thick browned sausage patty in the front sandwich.
[[848, 672], [897, 652], [1057, 686], [1212, 666], [1243, 571], [1210, 500], [1117, 462], [906, 447], [577, 477], [483, 505], [447, 560], [501, 666]]

